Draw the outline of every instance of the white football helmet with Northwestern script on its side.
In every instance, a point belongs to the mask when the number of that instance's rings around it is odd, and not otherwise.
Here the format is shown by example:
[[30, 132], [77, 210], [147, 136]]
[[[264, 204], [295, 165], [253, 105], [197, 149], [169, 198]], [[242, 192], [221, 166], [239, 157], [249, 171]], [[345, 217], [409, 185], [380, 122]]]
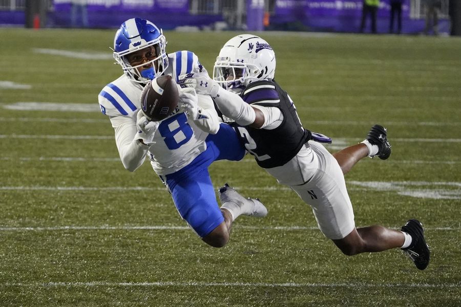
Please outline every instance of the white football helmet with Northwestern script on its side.
[[256, 35], [241, 34], [229, 39], [219, 52], [213, 79], [238, 94], [253, 81], [273, 79], [275, 68], [275, 53], [269, 43]]

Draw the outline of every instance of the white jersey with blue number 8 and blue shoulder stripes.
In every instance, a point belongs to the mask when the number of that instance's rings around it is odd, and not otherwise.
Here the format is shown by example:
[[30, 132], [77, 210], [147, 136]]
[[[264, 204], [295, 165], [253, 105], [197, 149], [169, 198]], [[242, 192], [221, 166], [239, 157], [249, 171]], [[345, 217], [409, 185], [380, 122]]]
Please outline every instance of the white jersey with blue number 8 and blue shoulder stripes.
[[[186, 73], [198, 73], [201, 65], [198, 57], [190, 51], [169, 54], [169, 65], [163, 75], [178, 77]], [[115, 141], [125, 168], [134, 171], [142, 165], [146, 156], [159, 175], [176, 172], [191, 163], [206, 149], [208, 133], [193, 121], [187, 122], [184, 113], [175, 112], [162, 120], [154, 136], [152, 146], [142, 145], [134, 137], [137, 133], [136, 115], [141, 108], [142, 85], [131, 81], [126, 75], [104, 86], [99, 93], [101, 112], [110, 117], [115, 130]]]

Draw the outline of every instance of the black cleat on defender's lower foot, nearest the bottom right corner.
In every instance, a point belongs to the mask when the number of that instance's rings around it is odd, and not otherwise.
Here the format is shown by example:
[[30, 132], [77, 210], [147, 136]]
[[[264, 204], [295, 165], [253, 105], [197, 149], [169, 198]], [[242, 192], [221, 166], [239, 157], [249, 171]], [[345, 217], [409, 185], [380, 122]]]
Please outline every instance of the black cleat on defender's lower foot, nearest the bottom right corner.
[[413, 260], [416, 268], [420, 270], [426, 269], [429, 265], [431, 251], [424, 239], [423, 224], [413, 218], [402, 227], [402, 231], [411, 235], [412, 240], [411, 245], [407, 248], [403, 248], [402, 250], [408, 257], [411, 258], [411, 260]]

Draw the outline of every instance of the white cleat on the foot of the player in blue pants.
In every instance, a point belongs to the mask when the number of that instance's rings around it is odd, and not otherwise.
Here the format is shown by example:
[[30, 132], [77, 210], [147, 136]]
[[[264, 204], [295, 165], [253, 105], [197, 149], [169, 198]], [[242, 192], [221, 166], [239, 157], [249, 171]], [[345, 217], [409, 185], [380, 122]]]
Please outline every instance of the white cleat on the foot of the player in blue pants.
[[267, 208], [259, 199], [244, 198], [234, 188], [229, 187], [227, 183], [222, 188], [219, 188], [219, 199], [221, 204], [227, 202], [237, 204], [241, 208], [243, 215], [257, 217], [267, 215]]

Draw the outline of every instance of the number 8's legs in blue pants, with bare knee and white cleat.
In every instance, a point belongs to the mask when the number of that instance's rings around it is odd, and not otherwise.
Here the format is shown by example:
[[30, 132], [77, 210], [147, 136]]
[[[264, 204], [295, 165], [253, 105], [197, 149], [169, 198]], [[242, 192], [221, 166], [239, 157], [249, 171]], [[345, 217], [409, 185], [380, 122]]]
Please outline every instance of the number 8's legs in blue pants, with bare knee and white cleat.
[[[202, 240], [213, 247], [222, 247], [229, 240], [232, 223], [241, 214], [254, 215], [255, 203], [261, 212], [265, 209], [259, 201], [245, 199], [235, 190], [228, 196], [228, 203], [220, 209], [216, 201], [213, 183], [207, 167], [216, 160], [241, 160], [245, 150], [240, 145], [235, 130], [221, 125], [217, 135], [206, 140], [207, 149], [193, 163], [166, 176], [176, 208], [181, 217], [197, 232]], [[227, 194], [227, 193], [220, 193]], [[253, 211], [252, 211], [253, 210]], [[265, 214], [264, 214], [265, 215]]]

